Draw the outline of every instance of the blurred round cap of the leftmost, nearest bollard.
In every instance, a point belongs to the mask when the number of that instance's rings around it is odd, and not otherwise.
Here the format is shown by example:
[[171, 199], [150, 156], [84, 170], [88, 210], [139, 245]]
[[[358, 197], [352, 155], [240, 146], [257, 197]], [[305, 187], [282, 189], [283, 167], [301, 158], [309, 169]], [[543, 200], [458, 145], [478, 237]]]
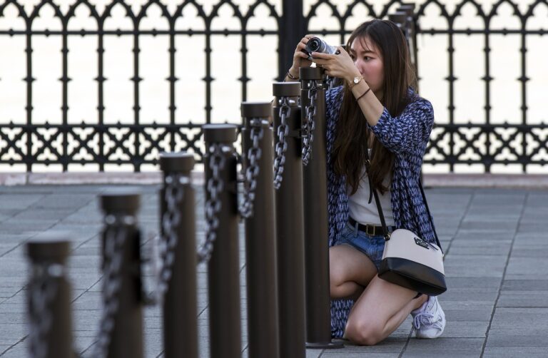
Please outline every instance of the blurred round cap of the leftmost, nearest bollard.
[[71, 241], [66, 232], [47, 232], [26, 242], [26, 253], [32, 260], [64, 263], [71, 253]]

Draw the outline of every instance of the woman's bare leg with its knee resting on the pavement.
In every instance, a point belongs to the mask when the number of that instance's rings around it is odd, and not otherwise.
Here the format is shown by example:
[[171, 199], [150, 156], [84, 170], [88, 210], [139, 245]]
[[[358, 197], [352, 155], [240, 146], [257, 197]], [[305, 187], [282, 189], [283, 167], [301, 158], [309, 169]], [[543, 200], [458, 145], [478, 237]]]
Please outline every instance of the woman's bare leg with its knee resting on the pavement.
[[412, 310], [427, 296], [375, 276], [350, 311], [345, 338], [356, 344], [373, 345], [400, 327]]

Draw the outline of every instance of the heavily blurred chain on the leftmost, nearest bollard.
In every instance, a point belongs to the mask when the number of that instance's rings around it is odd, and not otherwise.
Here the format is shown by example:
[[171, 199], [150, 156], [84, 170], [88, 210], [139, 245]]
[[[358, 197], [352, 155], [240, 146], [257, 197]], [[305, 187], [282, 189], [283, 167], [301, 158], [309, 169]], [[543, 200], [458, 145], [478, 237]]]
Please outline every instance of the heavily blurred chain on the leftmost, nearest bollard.
[[29, 290], [30, 334], [29, 350], [31, 357], [44, 358], [48, 354], [46, 339], [53, 322], [51, 303], [58, 292], [58, 282], [63, 276], [64, 267], [58, 263], [41, 262], [33, 266], [34, 275]]

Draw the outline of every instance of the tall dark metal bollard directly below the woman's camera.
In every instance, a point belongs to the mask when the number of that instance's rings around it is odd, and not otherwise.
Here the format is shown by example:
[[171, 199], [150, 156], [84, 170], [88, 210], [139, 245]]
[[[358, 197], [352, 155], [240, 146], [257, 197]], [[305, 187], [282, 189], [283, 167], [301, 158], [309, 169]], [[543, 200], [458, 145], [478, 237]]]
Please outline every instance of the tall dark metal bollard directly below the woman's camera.
[[308, 115], [308, 121], [310, 121], [311, 113], [314, 113], [312, 117], [315, 121], [314, 140], [310, 144], [310, 162], [304, 168], [303, 181], [306, 346], [308, 348], [342, 348], [342, 343], [331, 342], [330, 328], [327, 148], [323, 74], [323, 68], [300, 68], [299, 70], [300, 98], [303, 107], [301, 118], [304, 122]]

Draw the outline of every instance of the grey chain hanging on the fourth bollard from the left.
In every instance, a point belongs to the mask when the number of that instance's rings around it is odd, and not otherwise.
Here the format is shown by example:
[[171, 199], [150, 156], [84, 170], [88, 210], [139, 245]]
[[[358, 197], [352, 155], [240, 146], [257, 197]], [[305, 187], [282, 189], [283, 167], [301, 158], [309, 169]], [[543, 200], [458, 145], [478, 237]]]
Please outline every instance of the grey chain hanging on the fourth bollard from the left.
[[205, 202], [205, 242], [198, 247], [198, 262], [208, 262], [213, 251], [213, 242], [217, 238], [219, 219], [217, 214], [220, 212], [219, 194], [223, 191], [224, 183], [220, 178], [220, 171], [225, 167], [225, 157], [223, 155], [223, 144], [213, 143], [209, 147], [209, 168], [211, 169], [211, 178], [208, 179], [207, 190], [209, 200]]

